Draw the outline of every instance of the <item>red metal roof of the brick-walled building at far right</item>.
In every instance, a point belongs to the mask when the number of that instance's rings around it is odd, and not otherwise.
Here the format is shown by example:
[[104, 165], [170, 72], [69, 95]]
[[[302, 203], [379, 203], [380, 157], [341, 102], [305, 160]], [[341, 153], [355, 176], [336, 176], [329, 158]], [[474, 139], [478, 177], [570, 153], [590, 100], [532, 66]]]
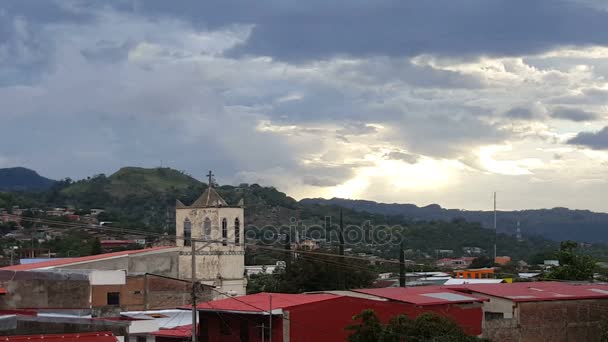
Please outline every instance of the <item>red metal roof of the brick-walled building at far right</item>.
[[465, 284], [450, 286], [461, 292], [507, 298], [514, 302], [540, 302], [549, 300], [574, 300], [608, 298], [607, 284], [573, 284], [552, 281]]

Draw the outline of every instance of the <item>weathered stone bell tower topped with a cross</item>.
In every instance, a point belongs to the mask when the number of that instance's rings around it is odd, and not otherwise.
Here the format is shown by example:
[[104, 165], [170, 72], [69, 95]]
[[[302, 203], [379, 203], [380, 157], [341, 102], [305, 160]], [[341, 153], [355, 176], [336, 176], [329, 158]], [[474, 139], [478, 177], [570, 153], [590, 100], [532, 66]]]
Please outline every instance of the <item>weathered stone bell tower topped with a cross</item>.
[[[192, 278], [192, 245], [195, 244], [196, 279], [215, 286], [219, 292], [244, 295], [245, 228], [242, 203], [231, 206], [213, 188], [209, 171], [209, 186], [191, 205], [177, 200], [175, 206], [175, 235], [179, 256], [179, 276]], [[193, 242], [190, 238], [195, 239]]]

